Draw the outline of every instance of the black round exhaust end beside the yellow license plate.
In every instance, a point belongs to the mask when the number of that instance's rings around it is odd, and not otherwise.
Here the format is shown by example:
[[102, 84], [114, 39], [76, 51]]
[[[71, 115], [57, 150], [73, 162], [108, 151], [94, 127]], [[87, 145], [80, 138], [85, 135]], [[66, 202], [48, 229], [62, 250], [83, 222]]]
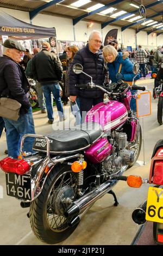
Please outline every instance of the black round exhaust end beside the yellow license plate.
[[133, 211], [132, 218], [136, 224], [142, 225], [146, 223], [146, 208], [147, 200]]

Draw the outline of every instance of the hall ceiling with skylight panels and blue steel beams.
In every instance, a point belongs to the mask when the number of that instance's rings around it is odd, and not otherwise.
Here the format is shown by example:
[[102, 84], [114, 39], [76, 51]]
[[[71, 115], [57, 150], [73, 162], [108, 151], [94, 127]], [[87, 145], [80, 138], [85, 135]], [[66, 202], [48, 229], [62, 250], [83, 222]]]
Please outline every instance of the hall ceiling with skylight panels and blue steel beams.
[[[146, 7], [146, 20], [139, 15], [141, 4]], [[43, 13], [69, 17], [74, 25], [85, 20], [99, 22], [102, 28], [114, 25], [121, 27], [122, 31], [131, 28], [148, 34], [163, 33], [163, 0], [0, 0], [0, 7], [29, 11], [31, 20]]]

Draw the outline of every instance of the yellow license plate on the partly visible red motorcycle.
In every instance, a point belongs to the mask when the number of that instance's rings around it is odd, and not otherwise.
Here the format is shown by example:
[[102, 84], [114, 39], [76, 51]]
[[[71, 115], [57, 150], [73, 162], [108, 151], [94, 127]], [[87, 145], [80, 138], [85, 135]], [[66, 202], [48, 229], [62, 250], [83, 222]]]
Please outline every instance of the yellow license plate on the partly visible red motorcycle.
[[149, 187], [146, 220], [163, 223], [163, 188]]

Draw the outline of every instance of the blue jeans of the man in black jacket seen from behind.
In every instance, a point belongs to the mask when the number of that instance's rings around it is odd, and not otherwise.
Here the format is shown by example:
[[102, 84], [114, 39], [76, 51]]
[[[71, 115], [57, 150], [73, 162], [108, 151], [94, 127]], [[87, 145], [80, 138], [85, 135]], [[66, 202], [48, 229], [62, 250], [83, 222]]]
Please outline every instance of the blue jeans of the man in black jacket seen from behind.
[[61, 98], [60, 98], [59, 83], [42, 84], [42, 90], [46, 99], [46, 109], [47, 109], [48, 119], [54, 119], [51, 92], [53, 93], [53, 96], [57, 105], [59, 118], [63, 118], [64, 109], [63, 109]]

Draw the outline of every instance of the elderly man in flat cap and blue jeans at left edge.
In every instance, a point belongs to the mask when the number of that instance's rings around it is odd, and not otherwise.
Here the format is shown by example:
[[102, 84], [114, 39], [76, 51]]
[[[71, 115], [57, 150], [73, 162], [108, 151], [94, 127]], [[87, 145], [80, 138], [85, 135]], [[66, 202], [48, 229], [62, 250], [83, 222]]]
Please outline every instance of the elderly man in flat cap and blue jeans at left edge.
[[[10, 97], [21, 103], [17, 121], [3, 118], [7, 129], [8, 155], [17, 158], [21, 138], [26, 133], [35, 133], [32, 107], [28, 100], [29, 83], [23, 68], [18, 64], [26, 48], [13, 39], [4, 41], [3, 57], [0, 57], [0, 97]], [[24, 141], [23, 150], [33, 153], [34, 139]]]

